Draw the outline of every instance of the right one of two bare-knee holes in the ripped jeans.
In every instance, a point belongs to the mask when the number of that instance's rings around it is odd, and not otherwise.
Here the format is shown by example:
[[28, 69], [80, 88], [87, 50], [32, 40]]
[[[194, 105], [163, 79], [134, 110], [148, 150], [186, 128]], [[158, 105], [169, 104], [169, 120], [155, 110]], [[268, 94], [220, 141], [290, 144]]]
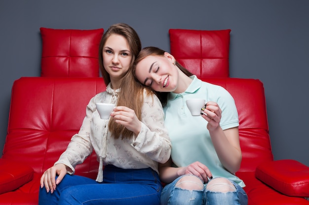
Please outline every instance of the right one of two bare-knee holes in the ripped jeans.
[[206, 185], [206, 189], [212, 192], [235, 192], [236, 188], [227, 178], [214, 178]]

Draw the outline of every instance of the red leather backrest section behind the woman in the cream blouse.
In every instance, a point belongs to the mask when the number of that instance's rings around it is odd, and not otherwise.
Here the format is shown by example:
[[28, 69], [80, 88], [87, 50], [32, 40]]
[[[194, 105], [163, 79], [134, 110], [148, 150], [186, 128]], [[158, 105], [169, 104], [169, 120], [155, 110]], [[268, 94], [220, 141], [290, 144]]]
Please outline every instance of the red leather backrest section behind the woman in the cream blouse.
[[[51, 167], [79, 131], [86, 105], [106, 88], [102, 78], [22, 77], [12, 87], [3, 159], [27, 162], [36, 173]], [[94, 154], [76, 173], [96, 177]]]

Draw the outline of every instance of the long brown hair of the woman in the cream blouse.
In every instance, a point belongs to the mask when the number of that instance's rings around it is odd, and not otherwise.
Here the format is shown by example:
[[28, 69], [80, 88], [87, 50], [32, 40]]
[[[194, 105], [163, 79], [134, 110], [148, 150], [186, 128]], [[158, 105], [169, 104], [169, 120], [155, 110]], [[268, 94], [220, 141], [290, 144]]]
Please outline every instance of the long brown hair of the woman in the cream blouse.
[[[99, 46], [99, 65], [105, 85], [108, 85], [111, 82], [111, 78], [103, 65], [103, 47], [107, 39], [112, 34], [123, 36], [127, 40], [130, 52], [132, 53], [130, 68], [127, 74], [121, 79], [120, 92], [118, 92], [116, 106], [126, 106], [134, 110], [136, 116], [141, 120], [144, 88], [134, 80], [134, 76], [132, 74], [134, 60], [142, 49], [140, 38], [132, 27], [123, 23], [112, 25], [104, 33]], [[151, 90], [149, 90], [147, 93], [150, 92]], [[116, 123], [114, 118], [110, 119], [109, 130], [113, 133], [115, 138], [119, 138], [120, 136], [122, 138], [130, 138], [133, 135], [132, 131], [126, 129], [123, 125]]]

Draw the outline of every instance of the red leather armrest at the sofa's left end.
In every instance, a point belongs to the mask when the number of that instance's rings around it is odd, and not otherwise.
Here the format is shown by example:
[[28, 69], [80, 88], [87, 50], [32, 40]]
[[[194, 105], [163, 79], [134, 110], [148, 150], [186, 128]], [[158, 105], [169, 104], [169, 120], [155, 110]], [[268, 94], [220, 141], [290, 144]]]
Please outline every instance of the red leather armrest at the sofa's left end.
[[31, 181], [33, 173], [29, 165], [0, 159], [0, 194], [13, 191]]

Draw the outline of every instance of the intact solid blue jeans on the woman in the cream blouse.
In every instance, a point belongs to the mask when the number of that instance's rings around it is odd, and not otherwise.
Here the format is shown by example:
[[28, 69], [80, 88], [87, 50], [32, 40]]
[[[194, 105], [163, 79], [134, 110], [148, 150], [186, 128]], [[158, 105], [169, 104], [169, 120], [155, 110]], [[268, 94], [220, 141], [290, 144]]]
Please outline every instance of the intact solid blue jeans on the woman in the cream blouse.
[[104, 168], [103, 182], [67, 174], [53, 194], [39, 190], [39, 205], [159, 205], [162, 185], [147, 169]]

